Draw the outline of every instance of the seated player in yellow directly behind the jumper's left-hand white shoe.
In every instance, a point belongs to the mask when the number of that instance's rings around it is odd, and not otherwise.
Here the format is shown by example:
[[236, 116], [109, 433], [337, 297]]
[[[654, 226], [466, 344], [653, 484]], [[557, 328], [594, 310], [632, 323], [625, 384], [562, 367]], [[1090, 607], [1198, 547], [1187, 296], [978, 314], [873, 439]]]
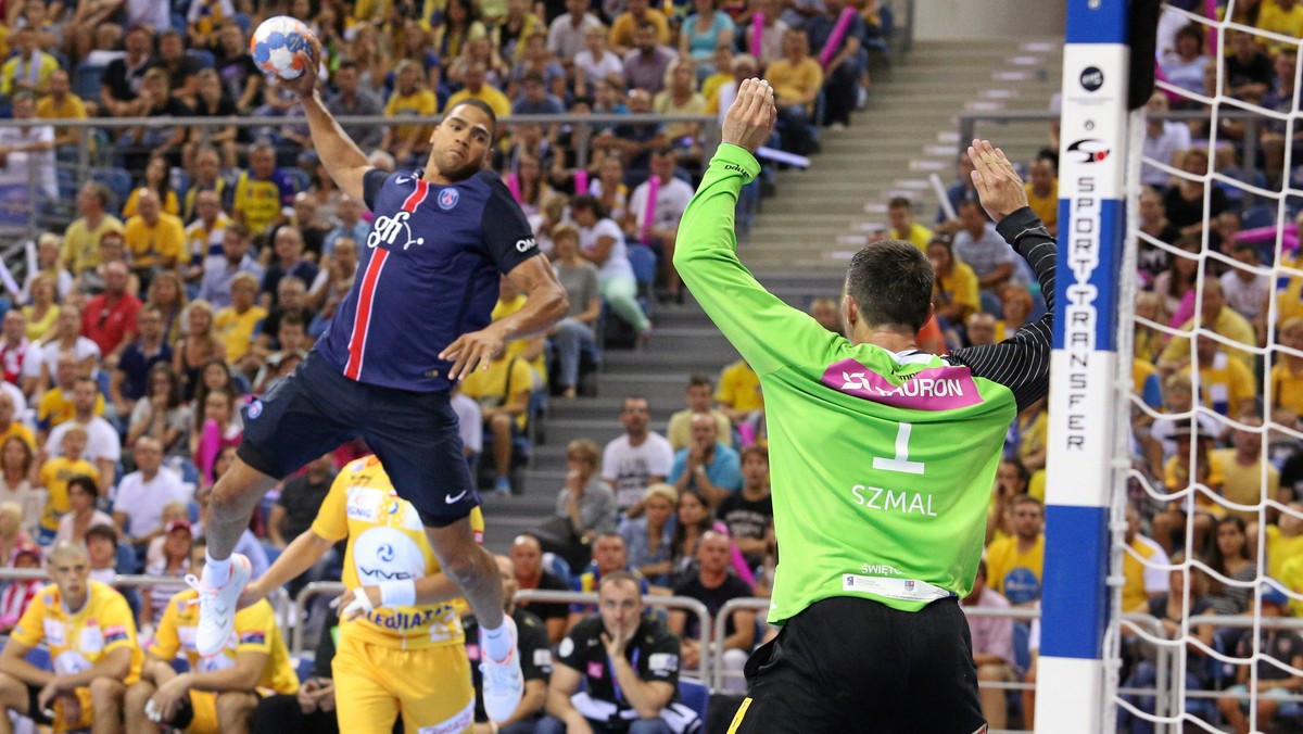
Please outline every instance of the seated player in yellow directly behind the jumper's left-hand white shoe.
[[[192, 572], [203, 567], [205, 550], [203, 538], [197, 540], [190, 549]], [[141, 681], [126, 691], [128, 734], [158, 734], [160, 725], [188, 734], [244, 734], [261, 695], [298, 692], [298, 675], [271, 604], [263, 600], [241, 609], [225, 649], [199, 657], [194, 647], [198, 596], [186, 589], [168, 601]], [[172, 668], [179, 653], [190, 664], [188, 673]]]

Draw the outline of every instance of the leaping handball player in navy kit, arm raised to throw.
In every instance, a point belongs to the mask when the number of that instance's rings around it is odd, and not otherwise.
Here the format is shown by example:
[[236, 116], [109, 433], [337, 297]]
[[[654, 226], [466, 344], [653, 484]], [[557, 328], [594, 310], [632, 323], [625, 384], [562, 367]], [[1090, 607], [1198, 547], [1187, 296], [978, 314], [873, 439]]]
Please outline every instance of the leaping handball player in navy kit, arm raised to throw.
[[[448, 391], [487, 368], [506, 342], [546, 332], [566, 316], [566, 291], [520, 206], [486, 169], [496, 136], [489, 106], [472, 99], [452, 107], [430, 137], [426, 168], [386, 173], [326, 111], [315, 63], [304, 66], [300, 78], [279, 83], [302, 100], [326, 171], [375, 220], [330, 331], [293, 377], [245, 409], [237, 459], [212, 492], [207, 563], [202, 579], [189, 579], [199, 591], [197, 647], [216, 654], [232, 634], [250, 575], [233, 549], [263, 495], [310, 459], [362, 438], [399, 495], [416, 506], [444, 572], [465, 592], [483, 628], [485, 708], [503, 720], [524, 691], [516, 631], [502, 613], [498, 566], [472, 536], [468, 516], [480, 497]], [[499, 274], [529, 301], [490, 322]], [[366, 595], [373, 606], [413, 604], [414, 581], [377, 581]]]

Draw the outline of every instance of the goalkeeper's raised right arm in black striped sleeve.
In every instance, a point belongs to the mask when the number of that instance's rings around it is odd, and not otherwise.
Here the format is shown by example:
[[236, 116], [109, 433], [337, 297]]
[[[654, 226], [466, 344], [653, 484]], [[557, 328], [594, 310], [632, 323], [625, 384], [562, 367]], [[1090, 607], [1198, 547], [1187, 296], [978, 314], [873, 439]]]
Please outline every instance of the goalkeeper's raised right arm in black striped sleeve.
[[1027, 192], [1014, 166], [998, 147], [973, 141], [968, 147], [973, 184], [995, 229], [1027, 259], [1041, 284], [1045, 316], [1018, 330], [999, 344], [955, 349], [951, 361], [968, 365], [973, 374], [1009, 387], [1018, 409], [1045, 396], [1050, 382], [1050, 349], [1054, 336], [1054, 267], [1058, 244], [1027, 206]]

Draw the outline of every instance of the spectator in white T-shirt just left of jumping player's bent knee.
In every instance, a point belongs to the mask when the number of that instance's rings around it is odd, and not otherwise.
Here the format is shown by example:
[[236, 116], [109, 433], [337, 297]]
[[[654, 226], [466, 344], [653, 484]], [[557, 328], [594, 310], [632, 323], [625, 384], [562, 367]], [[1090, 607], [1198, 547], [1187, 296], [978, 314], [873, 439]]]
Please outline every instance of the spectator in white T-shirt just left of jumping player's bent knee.
[[181, 478], [163, 467], [163, 445], [156, 438], [137, 438], [133, 456], [137, 469], [117, 485], [112, 520], [130, 544], [145, 550], [164, 532], [163, 506], [190, 502], [192, 495]]

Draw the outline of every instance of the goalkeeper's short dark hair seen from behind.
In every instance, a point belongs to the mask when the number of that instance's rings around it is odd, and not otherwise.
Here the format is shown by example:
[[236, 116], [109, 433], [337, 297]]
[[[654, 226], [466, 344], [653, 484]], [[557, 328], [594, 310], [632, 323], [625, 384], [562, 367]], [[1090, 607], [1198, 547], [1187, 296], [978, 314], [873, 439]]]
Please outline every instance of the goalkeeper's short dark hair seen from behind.
[[932, 309], [934, 272], [919, 248], [904, 240], [872, 242], [851, 258], [846, 292], [870, 326], [923, 329]]

